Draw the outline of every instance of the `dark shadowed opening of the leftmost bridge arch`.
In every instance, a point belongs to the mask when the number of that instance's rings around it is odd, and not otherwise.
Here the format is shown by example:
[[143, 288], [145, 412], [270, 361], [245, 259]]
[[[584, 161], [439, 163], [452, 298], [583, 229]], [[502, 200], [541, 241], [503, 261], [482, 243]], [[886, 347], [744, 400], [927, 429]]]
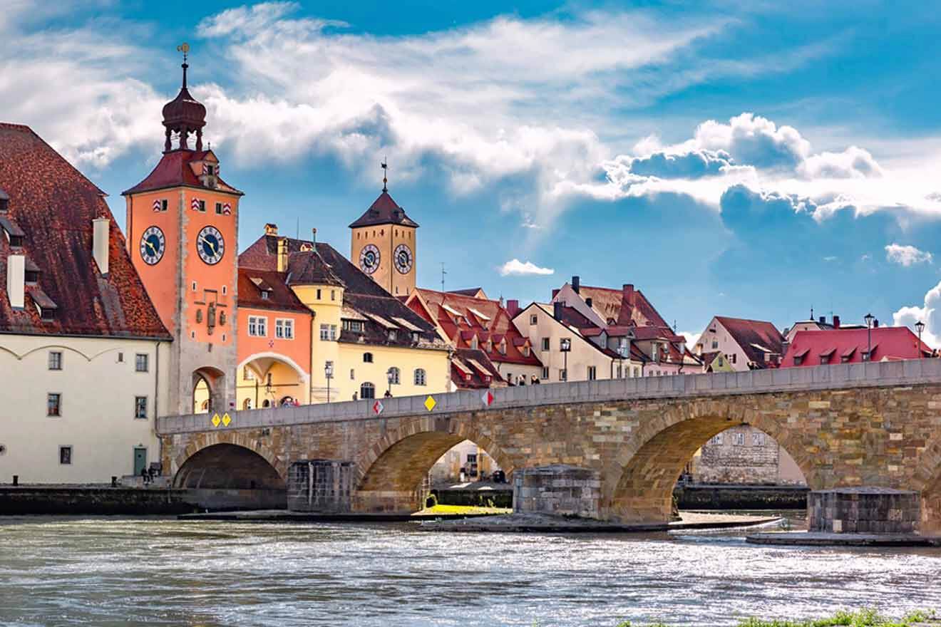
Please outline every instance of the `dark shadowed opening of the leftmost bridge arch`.
[[173, 477], [173, 487], [206, 509], [282, 509], [285, 481], [278, 469], [251, 448], [226, 442], [199, 448]]

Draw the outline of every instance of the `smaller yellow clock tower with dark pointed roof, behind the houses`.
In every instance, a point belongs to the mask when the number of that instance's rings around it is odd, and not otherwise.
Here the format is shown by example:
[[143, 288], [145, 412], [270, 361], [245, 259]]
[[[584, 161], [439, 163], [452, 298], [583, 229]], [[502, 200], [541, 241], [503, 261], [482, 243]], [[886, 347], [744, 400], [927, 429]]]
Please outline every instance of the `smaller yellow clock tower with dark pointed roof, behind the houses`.
[[[386, 165], [382, 165], [385, 169]], [[415, 231], [418, 224], [395, 204], [388, 181], [382, 194], [359, 220], [350, 225], [350, 260], [373, 277], [392, 296], [407, 296], [415, 290]]]

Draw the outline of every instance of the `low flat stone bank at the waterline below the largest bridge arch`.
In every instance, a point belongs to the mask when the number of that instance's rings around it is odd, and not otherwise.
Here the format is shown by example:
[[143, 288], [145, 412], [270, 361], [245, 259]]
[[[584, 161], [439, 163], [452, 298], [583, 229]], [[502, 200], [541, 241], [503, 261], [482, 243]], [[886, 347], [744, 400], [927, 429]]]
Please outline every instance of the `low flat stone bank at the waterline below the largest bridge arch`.
[[434, 520], [423, 522], [422, 531], [502, 533], [643, 533], [651, 531], [678, 531], [681, 529], [726, 529], [742, 526], [772, 525], [779, 516], [750, 514], [713, 514], [698, 511], [679, 512], [680, 520], [671, 523], [612, 524], [588, 518], [562, 518], [548, 514], [515, 513], [487, 516], [470, 520]]

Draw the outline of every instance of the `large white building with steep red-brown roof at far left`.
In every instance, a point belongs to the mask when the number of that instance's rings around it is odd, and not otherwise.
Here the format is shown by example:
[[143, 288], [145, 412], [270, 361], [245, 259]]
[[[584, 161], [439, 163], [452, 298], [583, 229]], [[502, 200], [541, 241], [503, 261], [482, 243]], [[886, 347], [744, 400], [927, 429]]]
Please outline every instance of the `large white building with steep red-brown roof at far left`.
[[104, 196], [31, 129], [0, 124], [5, 481], [104, 483], [160, 459], [171, 337]]

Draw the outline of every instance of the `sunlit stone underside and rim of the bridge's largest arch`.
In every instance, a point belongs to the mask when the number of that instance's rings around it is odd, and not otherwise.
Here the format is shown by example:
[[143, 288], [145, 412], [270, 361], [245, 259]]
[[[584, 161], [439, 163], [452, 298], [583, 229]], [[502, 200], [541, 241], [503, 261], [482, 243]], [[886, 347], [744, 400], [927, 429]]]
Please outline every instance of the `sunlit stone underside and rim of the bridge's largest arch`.
[[779, 419], [764, 417], [743, 403], [706, 400], [669, 403], [656, 420], [643, 424], [617, 456], [617, 469], [602, 485], [602, 509], [622, 523], [662, 523], [670, 520], [673, 489], [695, 451], [714, 435], [748, 425], [763, 431], [788, 451], [804, 474], [807, 485], [822, 487], [824, 480], [811, 447], [799, 441]]

